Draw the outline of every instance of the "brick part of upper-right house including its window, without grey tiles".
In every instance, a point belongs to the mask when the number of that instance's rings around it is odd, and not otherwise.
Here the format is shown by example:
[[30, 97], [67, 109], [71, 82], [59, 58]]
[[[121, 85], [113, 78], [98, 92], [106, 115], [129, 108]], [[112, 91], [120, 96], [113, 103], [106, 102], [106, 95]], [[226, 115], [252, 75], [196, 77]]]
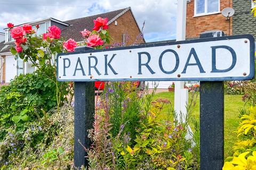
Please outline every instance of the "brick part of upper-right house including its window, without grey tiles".
[[186, 38], [199, 38], [200, 33], [213, 30], [222, 30], [226, 35], [232, 35], [233, 18], [226, 20], [221, 14], [226, 7], [233, 7], [232, 0], [188, 1]]

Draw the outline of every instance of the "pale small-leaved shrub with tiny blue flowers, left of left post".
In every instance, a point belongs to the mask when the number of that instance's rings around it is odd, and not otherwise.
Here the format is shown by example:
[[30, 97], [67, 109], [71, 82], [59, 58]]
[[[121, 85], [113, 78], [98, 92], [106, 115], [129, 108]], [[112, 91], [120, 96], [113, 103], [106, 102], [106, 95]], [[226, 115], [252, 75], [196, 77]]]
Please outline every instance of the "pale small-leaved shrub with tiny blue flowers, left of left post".
[[73, 166], [74, 109], [68, 104], [24, 123], [27, 130], [13, 127], [0, 142], [0, 169], [71, 169]]

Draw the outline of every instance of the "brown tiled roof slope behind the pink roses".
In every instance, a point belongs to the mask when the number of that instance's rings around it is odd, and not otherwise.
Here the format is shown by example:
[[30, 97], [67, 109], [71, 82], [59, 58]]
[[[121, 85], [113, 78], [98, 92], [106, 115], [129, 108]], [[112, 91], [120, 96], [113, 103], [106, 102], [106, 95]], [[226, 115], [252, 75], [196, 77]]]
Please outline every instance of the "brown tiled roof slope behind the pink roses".
[[66, 39], [72, 38], [75, 41], [83, 41], [83, 37], [80, 31], [83, 31], [84, 29], [92, 30], [94, 25], [93, 20], [97, 19], [98, 17], [101, 17], [101, 18], [108, 18], [108, 21], [110, 21], [125, 10], [127, 10], [127, 8], [124, 8], [122, 10], [117, 10], [117, 11], [111, 11], [103, 14], [87, 16], [84, 18], [64, 21], [65, 23], [68, 23], [70, 25], [62, 30], [61, 35]]

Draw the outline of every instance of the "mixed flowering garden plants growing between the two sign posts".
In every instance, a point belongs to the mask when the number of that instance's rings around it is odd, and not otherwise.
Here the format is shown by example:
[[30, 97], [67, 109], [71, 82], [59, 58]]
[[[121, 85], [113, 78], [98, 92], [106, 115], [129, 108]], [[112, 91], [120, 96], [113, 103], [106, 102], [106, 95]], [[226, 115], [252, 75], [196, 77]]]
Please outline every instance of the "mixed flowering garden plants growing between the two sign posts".
[[[131, 82], [114, 82], [97, 102], [89, 169], [198, 169], [186, 123], [170, 120], [170, 101], [153, 101]], [[169, 120], [158, 117], [169, 108]], [[126, 118], [127, 117], [127, 118]]]

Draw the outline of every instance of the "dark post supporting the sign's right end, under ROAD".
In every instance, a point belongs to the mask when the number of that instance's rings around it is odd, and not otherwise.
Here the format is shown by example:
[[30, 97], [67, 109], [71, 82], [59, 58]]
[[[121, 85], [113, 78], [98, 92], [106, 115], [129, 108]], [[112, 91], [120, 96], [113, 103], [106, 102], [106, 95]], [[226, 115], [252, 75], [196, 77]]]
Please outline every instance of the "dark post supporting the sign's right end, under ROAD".
[[[217, 34], [215, 34], [217, 35]], [[223, 33], [222, 33], [223, 35]], [[213, 37], [212, 33], [200, 38]], [[223, 81], [200, 82], [200, 169], [221, 170], [224, 163]]]

